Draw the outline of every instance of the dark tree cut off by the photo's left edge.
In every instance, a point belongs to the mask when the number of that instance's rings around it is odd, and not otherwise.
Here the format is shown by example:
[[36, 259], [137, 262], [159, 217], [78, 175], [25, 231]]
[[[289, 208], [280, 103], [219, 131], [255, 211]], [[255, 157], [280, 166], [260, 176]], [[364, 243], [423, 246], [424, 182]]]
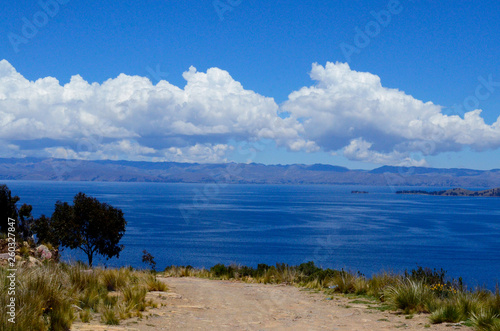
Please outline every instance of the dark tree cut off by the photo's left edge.
[[33, 207], [23, 204], [21, 208], [17, 208], [16, 204], [19, 202], [17, 195], [12, 196], [12, 192], [7, 185], [0, 185], [0, 232], [7, 232], [7, 222], [9, 218], [16, 220], [16, 232], [22, 239], [28, 240], [31, 233], [31, 224], [33, 216], [31, 211]]

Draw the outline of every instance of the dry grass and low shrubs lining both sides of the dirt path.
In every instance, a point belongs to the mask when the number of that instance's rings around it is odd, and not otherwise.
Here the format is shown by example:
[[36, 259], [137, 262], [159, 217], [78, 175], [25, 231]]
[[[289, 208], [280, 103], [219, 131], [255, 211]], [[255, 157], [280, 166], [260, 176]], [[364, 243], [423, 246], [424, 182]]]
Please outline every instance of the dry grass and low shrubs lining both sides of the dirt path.
[[[158, 304], [149, 291], [166, 291], [158, 275], [201, 277], [250, 283], [287, 284], [352, 298], [369, 309], [406, 314], [429, 314], [429, 323], [460, 323], [479, 331], [500, 331], [500, 290], [468, 289], [462, 281], [446, 280], [443, 270], [418, 268], [404, 274], [379, 273], [365, 277], [346, 270], [321, 269], [313, 262], [298, 266], [259, 264], [257, 268], [218, 264], [210, 269], [172, 266], [157, 273], [147, 252], [143, 261], [151, 270], [89, 269], [82, 263], [68, 265], [44, 261], [18, 268], [16, 325], [0, 314], [5, 330], [69, 330], [74, 322], [117, 325], [143, 314]], [[0, 285], [7, 287], [8, 274], [0, 267]], [[149, 296], [151, 298], [151, 296]], [[6, 306], [7, 296], [0, 296]], [[147, 316], [147, 315], [146, 315]]]

